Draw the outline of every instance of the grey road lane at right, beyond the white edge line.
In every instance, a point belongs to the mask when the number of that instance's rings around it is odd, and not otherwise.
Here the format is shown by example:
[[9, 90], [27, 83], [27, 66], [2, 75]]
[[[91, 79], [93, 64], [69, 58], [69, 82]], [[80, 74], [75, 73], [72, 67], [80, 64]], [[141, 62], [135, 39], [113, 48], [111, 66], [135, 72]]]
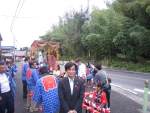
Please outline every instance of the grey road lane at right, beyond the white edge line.
[[[117, 70], [106, 70], [108, 77], [112, 79], [112, 85], [128, 90], [141, 98], [144, 92], [144, 81], [150, 81], [150, 73], [137, 73]], [[150, 86], [150, 83], [149, 83]], [[150, 91], [149, 91], [150, 101]]]

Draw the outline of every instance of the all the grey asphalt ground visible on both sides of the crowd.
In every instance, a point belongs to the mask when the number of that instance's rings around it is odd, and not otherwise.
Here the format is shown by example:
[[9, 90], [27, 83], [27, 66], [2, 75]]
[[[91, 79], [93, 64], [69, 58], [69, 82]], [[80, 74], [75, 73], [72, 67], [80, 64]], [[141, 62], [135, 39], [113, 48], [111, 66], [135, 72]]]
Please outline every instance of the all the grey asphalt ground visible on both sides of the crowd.
[[[26, 99], [22, 98], [22, 80], [21, 80], [21, 63], [17, 63], [18, 72], [15, 82], [17, 87], [15, 89], [17, 96], [15, 97], [15, 113], [29, 113], [26, 107]], [[123, 71], [106, 70], [108, 76], [112, 79], [111, 91], [111, 113], [142, 113], [143, 96], [141, 92], [133, 94], [130, 91], [118, 88], [115, 85], [120, 85], [125, 88], [133, 90], [135, 88], [143, 89], [143, 80], [149, 79], [149, 74], [135, 74]], [[130, 78], [133, 77], [133, 78]], [[137, 78], [137, 79], [136, 79]], [[140, 80], [141, 79], [141, 80]], [[114, 85], [115, 84], [115, 85]], [[92, 91], [93, 88], [86, 88], [86, 91]], [[134, 91], [135, 92], [135, 91]], [[39, 113], [39, 112], [34, 112]], [[83, 109], [83, 112], [85, 110]], [[150, 113], [150, 102], [148, 102], [148, 112]]]

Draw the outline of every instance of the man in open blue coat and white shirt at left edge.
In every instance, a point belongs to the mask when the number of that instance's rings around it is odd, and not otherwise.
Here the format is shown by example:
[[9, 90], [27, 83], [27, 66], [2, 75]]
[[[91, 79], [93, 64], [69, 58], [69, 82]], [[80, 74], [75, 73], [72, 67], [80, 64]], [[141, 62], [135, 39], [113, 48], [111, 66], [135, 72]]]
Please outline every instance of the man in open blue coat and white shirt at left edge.
[[14, 113], [14, 81], [10, 73], [6, 72], [6, 65], [0, 62], [0, 113]]

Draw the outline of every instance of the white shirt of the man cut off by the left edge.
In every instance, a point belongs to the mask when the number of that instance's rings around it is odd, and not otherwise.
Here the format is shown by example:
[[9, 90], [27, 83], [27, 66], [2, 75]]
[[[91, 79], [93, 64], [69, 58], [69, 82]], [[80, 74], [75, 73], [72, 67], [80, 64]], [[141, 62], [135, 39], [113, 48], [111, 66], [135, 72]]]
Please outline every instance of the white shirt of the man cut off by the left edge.
[[6, 93], [10, 91], [9, 80], [5, 73], [0, 74], [0, 86], [1, 93]]

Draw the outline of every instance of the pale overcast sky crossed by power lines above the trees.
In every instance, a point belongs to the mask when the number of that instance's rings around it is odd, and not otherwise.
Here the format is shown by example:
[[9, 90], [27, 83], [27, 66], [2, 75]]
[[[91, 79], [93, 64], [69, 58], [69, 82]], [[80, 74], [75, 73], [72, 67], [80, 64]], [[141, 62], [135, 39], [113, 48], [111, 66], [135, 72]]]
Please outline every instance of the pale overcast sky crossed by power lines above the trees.
[[[18, 17], [14, 23], [13, 33], [17, 39], [15, 46], [19, 49], [33, 43], [50, 30], [52, 24], [58, 23], [58, 17], [70, 9], [79, 10], [87, 7], [88, 0], [21, 0], [18, 12], [24, 2]], [[105, 0], [90, 0], [90, 9], [97, 6], [106, 9]], [[10, 26], [15, 16], [19, 0], [0, 0], [0, 33], [2, 46], [13, 46], [13, 35]], [[31, 18], [42, 17], [42, 18]], [[18, 44], [19, 43], [19, 44]]]

